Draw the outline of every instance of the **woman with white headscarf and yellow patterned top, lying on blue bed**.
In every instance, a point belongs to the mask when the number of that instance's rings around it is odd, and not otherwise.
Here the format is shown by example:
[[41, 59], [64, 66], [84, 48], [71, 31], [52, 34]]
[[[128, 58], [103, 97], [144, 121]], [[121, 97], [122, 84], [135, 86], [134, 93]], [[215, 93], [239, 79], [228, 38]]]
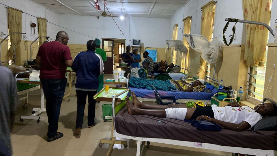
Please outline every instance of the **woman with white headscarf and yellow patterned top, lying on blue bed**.
[[192, 84], [183, 80], [171, 79], [171, 83], [176, 86], [177, 90], [182, 92], [202, 92], [206, 88], [204, 85], [205, 80], [203, 79], [197, 79]]

